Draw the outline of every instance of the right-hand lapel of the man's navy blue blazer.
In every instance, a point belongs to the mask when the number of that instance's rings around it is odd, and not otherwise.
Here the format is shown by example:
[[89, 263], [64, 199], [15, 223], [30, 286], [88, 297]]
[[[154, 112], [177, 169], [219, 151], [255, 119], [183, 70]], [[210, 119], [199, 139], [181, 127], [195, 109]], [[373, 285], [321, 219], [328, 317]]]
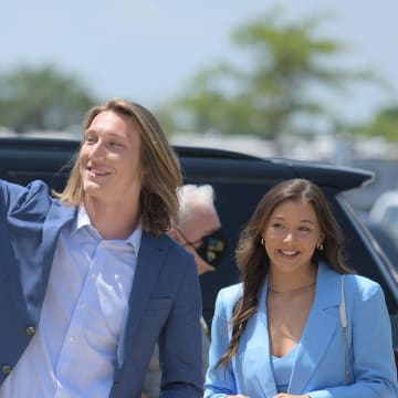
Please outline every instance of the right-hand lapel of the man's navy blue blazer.
[[132, 337], [139, 325], [153, 286], [163, 268], [166, 253], [165, 242], [166, 238], [164, 235], [154, 237], [145, 231], [143, 232], [137, 269], [128, 301], [128, 317], [117, 348], [117, 363], [119, 367], [124, 363], [125, 353], [129, 350], [128, 345], [132, 344], [132, 338], [127, 337]]

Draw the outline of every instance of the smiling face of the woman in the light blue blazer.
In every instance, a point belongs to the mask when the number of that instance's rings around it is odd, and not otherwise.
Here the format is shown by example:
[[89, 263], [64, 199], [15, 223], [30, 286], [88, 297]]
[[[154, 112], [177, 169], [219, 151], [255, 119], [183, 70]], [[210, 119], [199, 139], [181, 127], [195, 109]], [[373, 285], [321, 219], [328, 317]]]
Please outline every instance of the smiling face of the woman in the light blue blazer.
[[262, 235], [270, 271], [286, 273], [310, 269], [316, 245], [324, 239], [313, 206], [302, 200], [279, 205]]

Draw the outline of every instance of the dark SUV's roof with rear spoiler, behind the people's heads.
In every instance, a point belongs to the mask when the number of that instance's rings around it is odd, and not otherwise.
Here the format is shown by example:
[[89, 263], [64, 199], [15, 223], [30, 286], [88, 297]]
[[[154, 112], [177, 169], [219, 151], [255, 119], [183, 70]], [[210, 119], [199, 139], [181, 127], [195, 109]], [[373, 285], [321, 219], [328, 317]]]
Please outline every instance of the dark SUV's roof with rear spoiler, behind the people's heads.
[[[0, 138], [0, 143], [3, 157], [1, 164], [12, 165], [15, 170], [23, 167], [23, 165], [15, 164], [17, 159], [13, 155], [15, 148], [19, 150], [19, 159], [23, 158], [21, 155], [29, 158], [32, 153], [32, 156], [36, 158], [40, 153], [43, 159], [56, 157], [60, 168], [66, 170], [65, 164], [67, 165], [71, 154], [75, 154], [80, 146], [77, 139], [57, 138]], [[201, 175], [211, 175], [212, 170], [217, 170], [220, 179], [233, 176], [233, 180], [240, 178], [248, 180], [248, 176], [250, 176], [253, 182], [255, 180], [264, 181], [264, 178], [269, 179], [270, 184], [287, 178], [306, 178], [338, 192], [366, 186], [375, 179], [373, 171], [326, 163], [260, 158], [217, 148], [175, 146], [175, 150], [180, 158], [182, 169], [189, 169], [189, 175], [196, 179], [200, 179]]]

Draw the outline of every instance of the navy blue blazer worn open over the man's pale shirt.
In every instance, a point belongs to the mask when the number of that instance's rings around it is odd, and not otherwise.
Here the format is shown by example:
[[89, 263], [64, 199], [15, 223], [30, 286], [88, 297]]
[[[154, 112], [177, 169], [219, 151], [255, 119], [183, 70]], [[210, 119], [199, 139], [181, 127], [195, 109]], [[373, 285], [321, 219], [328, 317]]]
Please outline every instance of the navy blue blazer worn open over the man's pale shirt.
[[[57, 237], [75, 213], [43, 182], [0, 181], [0, 384], [38, 328]], [[160, 397], [202, 397], [200, 294], [192, 255], [166, 234], [144, 232], [109, 397], [140, 397], [156, 342]]]

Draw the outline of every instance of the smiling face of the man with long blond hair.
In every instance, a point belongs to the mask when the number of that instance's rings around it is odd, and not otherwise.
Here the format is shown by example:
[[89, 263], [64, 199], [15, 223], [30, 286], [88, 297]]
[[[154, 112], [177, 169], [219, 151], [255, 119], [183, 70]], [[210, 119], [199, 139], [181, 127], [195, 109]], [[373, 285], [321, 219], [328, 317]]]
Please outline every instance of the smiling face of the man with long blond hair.
[[80, 167], [85, 202], [137, 203], [142, 188], [140, 136], [133, 121], [112, 111], [84, 133]]

